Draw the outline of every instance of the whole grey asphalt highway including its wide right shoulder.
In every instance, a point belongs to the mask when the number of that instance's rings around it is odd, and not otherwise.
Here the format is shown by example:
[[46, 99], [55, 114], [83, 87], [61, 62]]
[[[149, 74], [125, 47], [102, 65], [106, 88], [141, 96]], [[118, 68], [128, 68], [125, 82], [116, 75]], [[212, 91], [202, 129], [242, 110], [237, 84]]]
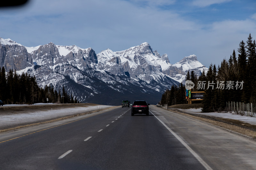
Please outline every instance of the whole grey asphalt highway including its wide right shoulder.
[[0, 134], [1, 169], [255, 169], [255, 158], [255, 142], [155, 106]]

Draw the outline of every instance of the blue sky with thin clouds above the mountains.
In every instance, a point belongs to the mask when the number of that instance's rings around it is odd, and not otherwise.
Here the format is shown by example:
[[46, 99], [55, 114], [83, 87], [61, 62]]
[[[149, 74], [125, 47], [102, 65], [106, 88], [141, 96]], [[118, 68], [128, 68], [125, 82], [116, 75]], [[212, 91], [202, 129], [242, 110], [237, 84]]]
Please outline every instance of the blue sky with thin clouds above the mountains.
[[233, 53], [251, 33], [254, 0], [30, 0], [0, 8], [0, 37], [27, 47], [91, 47], [121, 51], [148, 42], [172, 64], [196, 55], [206, 67]]

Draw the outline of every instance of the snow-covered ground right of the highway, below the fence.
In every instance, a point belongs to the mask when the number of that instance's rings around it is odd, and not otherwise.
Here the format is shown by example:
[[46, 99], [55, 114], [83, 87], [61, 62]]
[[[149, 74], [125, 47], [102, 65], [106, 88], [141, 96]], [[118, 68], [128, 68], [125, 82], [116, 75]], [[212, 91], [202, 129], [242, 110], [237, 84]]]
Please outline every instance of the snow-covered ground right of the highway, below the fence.
[[217, 112], [201, 113], [200, 108], [199, 109], [178, 109], [178, 110], [181, 110], [181, 111], [187, 112], [187, 113], [195, 113], [195, 114], [199, 114], [199, 115], [209, 115], [209, 116], [216, 116], [216, 117], [222, 117], [222, 118], [227, 118], [227, 119], [234, 119], [234, 120], [239, 120], [239, 121], [243, 121], [246, 123], [256, 125], [256, 117], [237, 115], [234, 112], [233, 113], [217, 113]]

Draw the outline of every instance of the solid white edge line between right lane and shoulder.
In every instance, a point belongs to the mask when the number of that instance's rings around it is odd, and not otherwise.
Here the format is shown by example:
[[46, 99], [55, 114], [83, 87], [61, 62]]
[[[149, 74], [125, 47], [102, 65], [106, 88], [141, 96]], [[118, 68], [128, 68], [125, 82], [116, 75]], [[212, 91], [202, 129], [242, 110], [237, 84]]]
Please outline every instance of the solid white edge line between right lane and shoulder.
[[[152, 115], [154, 115], [150, 110], [149, 110], [149, 112], [152, 114]], [[156, 117], [156, 115], [154, 115], [155, 117]], [[182, 143], [187, 149], [188, 149], [188, 151], [189, 152], [191, 152], [193, 155], [194, 155], [194, 157], [196, 157], [196, 159], [205, 167], [205, 169], [207, 169], [207, 170], [212, 170], [212, 168], [206, 163], [206, 162], [204, 162], [204, 160], [199, 156], [199, 155], [197, 155], [197, 153], [195, 152], [195, 151], [193, 151], [175, 132], [173, 132], [172, 131], [172, 129], [170, 129], [164, 122], [162, 122], [160, 119], [158, 119], [158, 117], [156, 117], [156, 119], [157, 120], [159, 120], [159, 122], [161, 122], [163, 125], [164, 125], [164, 127], [166, 128], [166, 129], [168, 129], [171, 133], [172, 133], [172, 135], [173, 136], [175, 136], [179, 141], [180, 141], [180, 143]]]

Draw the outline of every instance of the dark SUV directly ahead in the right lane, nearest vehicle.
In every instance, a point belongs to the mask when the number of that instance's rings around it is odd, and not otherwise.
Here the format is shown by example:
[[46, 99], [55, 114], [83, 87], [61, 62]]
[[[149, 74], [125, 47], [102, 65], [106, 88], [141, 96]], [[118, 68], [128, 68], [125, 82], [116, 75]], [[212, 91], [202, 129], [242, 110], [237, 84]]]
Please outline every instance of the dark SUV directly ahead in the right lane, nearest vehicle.
[[132, 116], [134, 114], [146, 114], [149, 115], [149, 109], [146, 100], [135, 100], [132, 104]]

